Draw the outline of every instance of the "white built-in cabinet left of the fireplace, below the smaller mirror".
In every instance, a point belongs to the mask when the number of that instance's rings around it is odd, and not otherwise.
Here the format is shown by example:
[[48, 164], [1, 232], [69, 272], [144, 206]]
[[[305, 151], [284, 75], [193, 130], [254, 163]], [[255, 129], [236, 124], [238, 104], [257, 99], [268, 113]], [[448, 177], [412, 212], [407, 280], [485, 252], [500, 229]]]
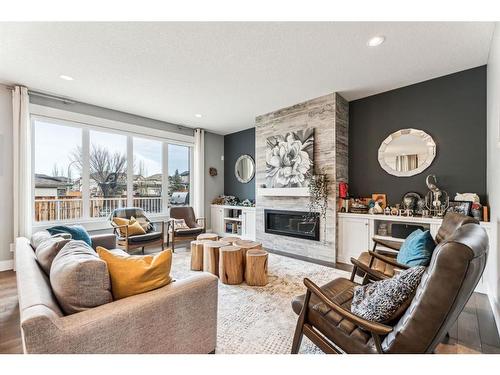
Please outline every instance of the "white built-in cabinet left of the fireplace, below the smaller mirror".
[[255, 207], [211, 206], [212, 232], [255, 240]]

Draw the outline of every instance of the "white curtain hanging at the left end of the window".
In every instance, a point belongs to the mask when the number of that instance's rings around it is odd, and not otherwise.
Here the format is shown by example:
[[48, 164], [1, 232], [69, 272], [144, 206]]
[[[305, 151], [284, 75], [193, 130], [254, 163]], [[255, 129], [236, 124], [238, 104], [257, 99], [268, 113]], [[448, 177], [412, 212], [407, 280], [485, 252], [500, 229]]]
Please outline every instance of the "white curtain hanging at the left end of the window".
[[28, 89], [12, 90], [14, 238], [31, 236], [31, 126]]

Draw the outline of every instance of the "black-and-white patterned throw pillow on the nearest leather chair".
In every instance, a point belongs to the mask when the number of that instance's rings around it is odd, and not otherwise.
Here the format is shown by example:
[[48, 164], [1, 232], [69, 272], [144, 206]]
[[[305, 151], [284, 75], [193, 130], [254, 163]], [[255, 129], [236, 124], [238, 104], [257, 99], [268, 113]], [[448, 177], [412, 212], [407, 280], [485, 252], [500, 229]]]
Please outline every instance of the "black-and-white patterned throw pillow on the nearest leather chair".
[[410, 305], [424, 271], [424, 266], [417, 266], [390, 279], [355, 287], [351, 311], [379, 323], [399, 318]]

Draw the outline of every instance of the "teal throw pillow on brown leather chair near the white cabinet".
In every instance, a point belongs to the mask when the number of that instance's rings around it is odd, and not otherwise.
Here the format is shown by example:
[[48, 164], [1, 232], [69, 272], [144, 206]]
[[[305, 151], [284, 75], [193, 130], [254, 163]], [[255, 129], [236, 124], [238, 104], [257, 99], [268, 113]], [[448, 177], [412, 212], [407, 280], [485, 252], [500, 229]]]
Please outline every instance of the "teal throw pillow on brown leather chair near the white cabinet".
[[417, 229], [412, 232], [399, 249], [397, 261], [407, 266], [428, 266], [436, 243], [431, 233]]

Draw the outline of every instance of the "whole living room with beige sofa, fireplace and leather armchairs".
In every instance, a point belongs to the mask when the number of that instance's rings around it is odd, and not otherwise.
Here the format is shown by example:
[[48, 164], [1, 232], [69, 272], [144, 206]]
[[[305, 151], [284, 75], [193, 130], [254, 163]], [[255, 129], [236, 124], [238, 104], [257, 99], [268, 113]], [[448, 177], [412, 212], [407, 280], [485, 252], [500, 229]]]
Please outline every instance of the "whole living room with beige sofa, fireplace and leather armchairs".
[[0, 353], [500, 354], [490, 18], [2, 20]]

